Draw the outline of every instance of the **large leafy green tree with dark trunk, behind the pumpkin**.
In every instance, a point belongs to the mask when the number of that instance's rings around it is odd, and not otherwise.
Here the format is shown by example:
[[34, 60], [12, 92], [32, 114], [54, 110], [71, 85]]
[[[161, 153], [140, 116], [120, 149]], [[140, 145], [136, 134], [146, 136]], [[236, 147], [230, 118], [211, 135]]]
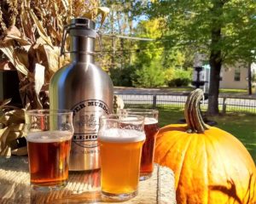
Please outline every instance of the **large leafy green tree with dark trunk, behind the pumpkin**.
[[155, 0], [148, 16], [166, 20], [162, 41], [167, 47], [196, 48], [211, 65], [207, 113], [218, 114], [222, 65], [253, 60], [256, 48], [256, 4], [253, 0]]

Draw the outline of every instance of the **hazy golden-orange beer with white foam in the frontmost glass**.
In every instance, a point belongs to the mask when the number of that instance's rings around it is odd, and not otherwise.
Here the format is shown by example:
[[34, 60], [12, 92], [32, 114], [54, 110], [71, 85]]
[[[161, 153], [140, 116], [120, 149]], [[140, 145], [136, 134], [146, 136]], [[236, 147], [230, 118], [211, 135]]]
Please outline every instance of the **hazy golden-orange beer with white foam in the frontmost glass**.
[[135, 129], [111, 128], [100, 132], [102, 193], [137, 195], [145, 134]]

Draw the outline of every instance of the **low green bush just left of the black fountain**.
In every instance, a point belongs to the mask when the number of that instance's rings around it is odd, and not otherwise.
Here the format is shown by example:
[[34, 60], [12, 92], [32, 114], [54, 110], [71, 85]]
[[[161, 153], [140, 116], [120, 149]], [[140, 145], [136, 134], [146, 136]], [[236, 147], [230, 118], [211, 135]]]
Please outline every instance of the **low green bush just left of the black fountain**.
[[188, 86], [192, 79], [192, 69], [188, 71], [169, 69], [166, 71], [166, 83], [169, 87]]

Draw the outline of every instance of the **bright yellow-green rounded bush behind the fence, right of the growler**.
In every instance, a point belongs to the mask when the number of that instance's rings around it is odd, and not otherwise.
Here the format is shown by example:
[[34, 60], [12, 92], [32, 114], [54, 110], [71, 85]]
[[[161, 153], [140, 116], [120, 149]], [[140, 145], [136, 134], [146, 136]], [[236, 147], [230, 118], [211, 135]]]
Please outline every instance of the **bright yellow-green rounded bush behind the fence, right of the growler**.
[[132, 84], [135, 87], [154, 88], [165, 83], [165, 75], [160, 60], [153, 60], [149, 65], [143, 65], [132, 76]]

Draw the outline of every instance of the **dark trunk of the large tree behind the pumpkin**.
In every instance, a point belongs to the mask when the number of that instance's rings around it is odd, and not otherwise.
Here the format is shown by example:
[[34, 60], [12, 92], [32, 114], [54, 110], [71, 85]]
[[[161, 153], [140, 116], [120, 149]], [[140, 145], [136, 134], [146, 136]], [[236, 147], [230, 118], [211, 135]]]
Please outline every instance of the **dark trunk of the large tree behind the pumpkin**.
[[[224, 3], [222, 1], [214, 1], [212, 11], [215, 11], [215, 17], [219, 17], [223, 14], [222, 8]], [[218, 11], [218, 12], [216, 12]], [[212, 41], [211, 41], [211, 53], [210, 53], [210, 88], [208, 95], [208, 108], [207, 115], [218, 115], [218, 89], [220, 70], [222, 65], [221, 48], [219, 42], [221, 41], [221, 23], [218, 18], [212, 18]]]

